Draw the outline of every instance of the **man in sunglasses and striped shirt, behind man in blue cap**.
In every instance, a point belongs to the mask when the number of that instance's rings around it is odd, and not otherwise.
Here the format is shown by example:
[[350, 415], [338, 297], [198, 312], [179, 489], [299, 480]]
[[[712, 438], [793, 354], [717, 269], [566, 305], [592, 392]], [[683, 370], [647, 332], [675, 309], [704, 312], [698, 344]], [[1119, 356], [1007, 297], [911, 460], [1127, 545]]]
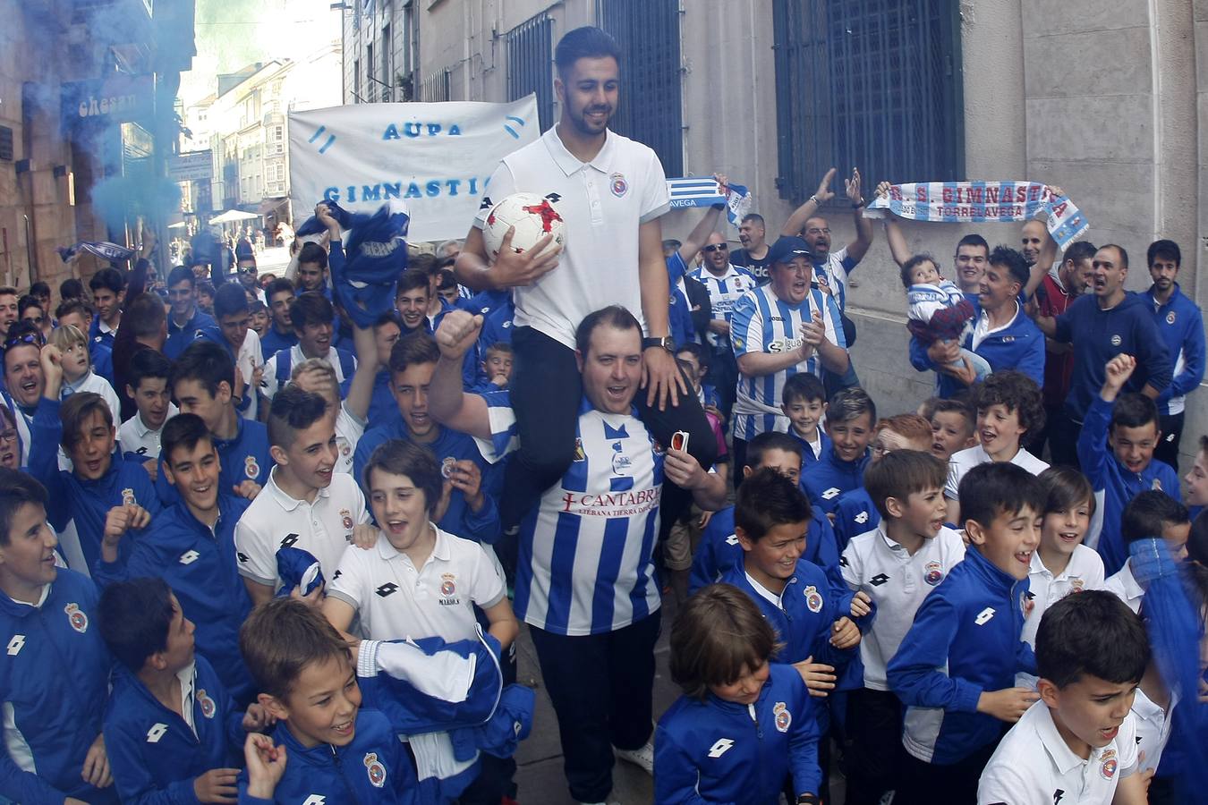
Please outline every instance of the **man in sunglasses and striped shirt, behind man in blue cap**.
[[709, 384], [718, 390], [721, 413], [728, 419], [734, 406], [734, 386], [738, 384], [738, 364], [730, 343], [730, 319], [734, 303], [759, 285], [759, 281], [745, 268], [737, 268], [730, 262], [730, 244], [720, 232], [712, 233], [701, 251], [704, 253], [704, 262], [689, 276], [709, 291], [709, 304], [713, 305], [708, 333], [709, 348], [713, 350]]

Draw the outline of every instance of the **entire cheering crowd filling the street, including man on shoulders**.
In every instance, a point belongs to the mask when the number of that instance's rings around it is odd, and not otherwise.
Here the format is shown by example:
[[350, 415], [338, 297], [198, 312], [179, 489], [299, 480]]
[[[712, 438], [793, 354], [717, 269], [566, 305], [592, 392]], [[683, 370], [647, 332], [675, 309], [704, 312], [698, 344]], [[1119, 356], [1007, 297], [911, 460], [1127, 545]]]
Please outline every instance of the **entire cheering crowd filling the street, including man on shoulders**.
[[[608, 129], [615, 42], [556, 63], [558, 124], [464, 243], [399, 252], [371, 322], [327, 204], [284, 276], [249, 244], [157, 288], [145, 232], [54, 304], [0, 288], [0, 801], [542, 801], [521, 622], [580, 803], [616, 759], [657, 803], [831, 801], [836, 771], [858, 805], [1198, 801], [1179, 246], [1132, 293], [1122, 246], [1029, 221], [946, 278], [888, 220], [935, 395], [887, 410], [850, 351], [859, 171], [774, 238], [750, 214], [731, 250], [719, 205], [664, 240], [657, 157]], [[488, 255], [513, 192], [557, 200], [564, 249]]]

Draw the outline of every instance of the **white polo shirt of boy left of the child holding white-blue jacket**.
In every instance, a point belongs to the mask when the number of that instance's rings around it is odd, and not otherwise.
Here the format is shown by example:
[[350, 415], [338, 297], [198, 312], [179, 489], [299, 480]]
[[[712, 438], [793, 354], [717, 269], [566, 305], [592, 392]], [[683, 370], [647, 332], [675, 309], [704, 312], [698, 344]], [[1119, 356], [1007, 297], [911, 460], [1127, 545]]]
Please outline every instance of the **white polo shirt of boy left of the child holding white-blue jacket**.
[[365, 495], [352, 476], [337, 472], [314, 503], [295, 500], [277, 485], [279, 469], [268, 473], [268, 483], [234, 526], [239, 574], [275, 590], [280, 587], [277, 550], [292, 547], [318, 559], [330, 584], [353, 538], [353, 526], [368, 520]]

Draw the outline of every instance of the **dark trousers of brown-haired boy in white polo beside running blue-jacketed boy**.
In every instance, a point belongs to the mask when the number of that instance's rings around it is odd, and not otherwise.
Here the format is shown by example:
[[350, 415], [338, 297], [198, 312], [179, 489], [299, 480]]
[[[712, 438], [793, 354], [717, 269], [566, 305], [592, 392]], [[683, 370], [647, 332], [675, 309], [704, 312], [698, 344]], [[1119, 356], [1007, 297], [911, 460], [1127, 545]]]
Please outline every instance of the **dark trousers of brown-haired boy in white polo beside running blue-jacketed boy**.
[[889, 690], [849, 690], [844, 748], [846, 801], [848, 805], [877, 805], [884, 792], [898, 787], [901, 777], [906, 754], [901, 700]]

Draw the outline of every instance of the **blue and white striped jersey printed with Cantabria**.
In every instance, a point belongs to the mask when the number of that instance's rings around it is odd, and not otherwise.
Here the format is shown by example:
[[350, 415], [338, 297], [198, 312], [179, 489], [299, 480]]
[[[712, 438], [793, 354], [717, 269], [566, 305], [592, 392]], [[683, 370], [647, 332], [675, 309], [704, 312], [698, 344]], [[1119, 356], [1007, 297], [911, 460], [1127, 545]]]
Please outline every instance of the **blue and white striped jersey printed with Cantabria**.
[[[516, 425], [507, 391], [482, 397], [493, 445], [480, 447], [489, 461], [515, 449]], [[662, 486], [663, 449], [635, 410], [606, 414], [585, 398], [575, 460], [521, 523], [516, 614], [577, 636], [616, 631], [656, 612]]]

